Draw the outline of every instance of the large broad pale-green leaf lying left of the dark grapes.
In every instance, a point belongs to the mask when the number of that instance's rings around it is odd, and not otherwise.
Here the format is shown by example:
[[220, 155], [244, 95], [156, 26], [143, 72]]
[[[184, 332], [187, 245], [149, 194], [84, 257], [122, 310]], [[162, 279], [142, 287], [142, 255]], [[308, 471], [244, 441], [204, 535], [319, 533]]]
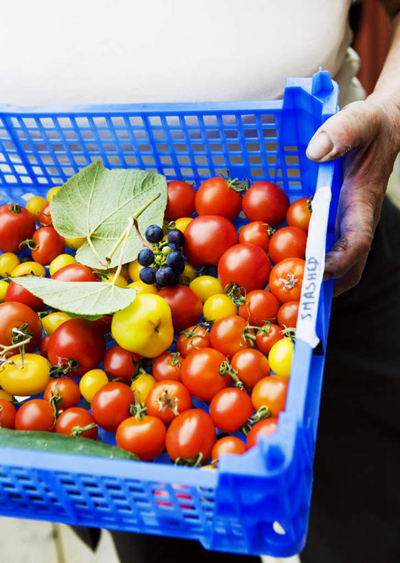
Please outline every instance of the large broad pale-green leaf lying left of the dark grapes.
[[[90, 239], [105, 263], [126, 230], [129, 217], [140, 212], [158, 194], [137, 217], [142, 234], [148, 225], [162, 227], [167, 200], [165, 177], [135, 168], [108, 170], [100, 162], [94, 162], [64, 184], [52, 199], [50, 212], [54, 228], [61, 236]], [[133, 230], [126, 241], [123, 262], [135, 260], [142, 246]], [[99, 262], [96, 252], [86, 242], [76, 252], [76, 259], [89, 267], [106, 267]], [[107, 267], [118, 265], [119, 254], [113, 254]]]

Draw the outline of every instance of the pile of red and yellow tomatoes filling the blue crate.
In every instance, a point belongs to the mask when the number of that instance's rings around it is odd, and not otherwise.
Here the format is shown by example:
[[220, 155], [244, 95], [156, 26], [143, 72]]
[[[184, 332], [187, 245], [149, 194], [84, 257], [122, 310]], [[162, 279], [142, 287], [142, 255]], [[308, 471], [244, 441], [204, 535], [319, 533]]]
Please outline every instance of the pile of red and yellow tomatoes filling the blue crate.
[[[58, 189], [26, 208], [0, 207], [0, 426], [91, 439], [101, 428], [103, 439], [142, 461], [166, 450], [175, 463], [214, 467], [221, 454], [242, 454], [274, 432], [285, 409], [310, 200], [289, 205], [269, 181], [244, 194], [229, 177], [197, 191], [168, 182], [164, 232], [184, 233], [186, 263], [177, 285], [158, 287], [140, 280], [137, 260], [118, 280], [115, 270], [77, 263], [73, 250], [85, 239], [63, 239], [52, 226]], [[113, 316], [70, 318], [9, 283], [25, 275], [114, 281], [137, 297]]]

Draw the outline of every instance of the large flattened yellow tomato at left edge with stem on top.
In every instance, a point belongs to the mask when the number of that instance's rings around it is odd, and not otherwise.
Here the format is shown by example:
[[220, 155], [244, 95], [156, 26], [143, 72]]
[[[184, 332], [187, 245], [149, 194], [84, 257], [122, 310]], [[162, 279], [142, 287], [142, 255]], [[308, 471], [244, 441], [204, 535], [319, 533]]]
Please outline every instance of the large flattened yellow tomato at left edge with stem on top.
[[50, 381], [50, 363], [39, 354], [21, 354], [8, 358], [12, 363], [4, 364], [0, 371], [0, 385], [11, 395], [36, 395], [43, 393]]

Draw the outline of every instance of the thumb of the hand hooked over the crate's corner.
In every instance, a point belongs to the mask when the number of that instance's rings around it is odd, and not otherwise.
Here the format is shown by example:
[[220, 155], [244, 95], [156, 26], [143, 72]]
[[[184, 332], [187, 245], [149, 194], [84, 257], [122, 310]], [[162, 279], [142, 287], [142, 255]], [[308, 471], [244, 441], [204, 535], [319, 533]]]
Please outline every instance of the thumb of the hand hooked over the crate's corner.
[[332, 115], [315, 132], [306, 155], [311, 160], [326, 162], [366, 145], [379, 132], [379, 119], [374, 104], [359, 101], [348, 104]]

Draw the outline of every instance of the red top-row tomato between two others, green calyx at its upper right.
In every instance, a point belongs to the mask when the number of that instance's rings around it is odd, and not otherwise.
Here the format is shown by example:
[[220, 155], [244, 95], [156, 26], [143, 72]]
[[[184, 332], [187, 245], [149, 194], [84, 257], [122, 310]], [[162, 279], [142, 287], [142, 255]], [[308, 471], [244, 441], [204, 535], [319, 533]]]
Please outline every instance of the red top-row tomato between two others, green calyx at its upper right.
[[199, 215], [219, 215], [234, 221], [242, 208], [242, 192], [234, 183], [216, 176], [203, 181], [196, 192], [195, 206]]

